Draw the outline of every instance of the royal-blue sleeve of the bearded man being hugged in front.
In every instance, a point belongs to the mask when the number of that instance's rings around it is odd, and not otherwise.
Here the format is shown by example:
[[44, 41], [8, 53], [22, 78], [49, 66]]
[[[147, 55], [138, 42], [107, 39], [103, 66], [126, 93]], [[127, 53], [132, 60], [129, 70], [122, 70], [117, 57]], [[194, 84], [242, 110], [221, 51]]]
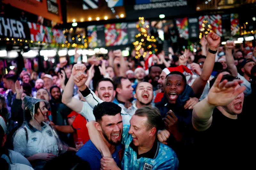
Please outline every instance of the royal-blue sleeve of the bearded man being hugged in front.
[[93, 151], [92, 148], [83, 147], [76, 152], [76, 155], [84, 161], [87, 161], [91, 169], [100, 169], [100, 159], [102, 158], [97, 152]]

